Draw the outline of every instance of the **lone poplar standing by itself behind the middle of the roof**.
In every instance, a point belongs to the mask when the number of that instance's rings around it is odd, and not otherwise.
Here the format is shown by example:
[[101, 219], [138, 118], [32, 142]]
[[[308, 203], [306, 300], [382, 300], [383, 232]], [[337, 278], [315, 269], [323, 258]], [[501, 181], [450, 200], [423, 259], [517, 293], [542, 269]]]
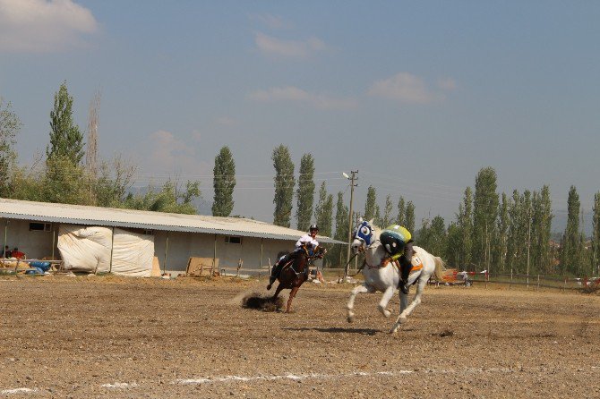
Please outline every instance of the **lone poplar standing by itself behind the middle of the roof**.
[[212, 169], [212, 187], [215, 190], [212, 202], [212, 216], [229, 216], [234, 209], [234, 188], [236, 187], [236, 162], [231, 150], [224, 146], [215, 157]]

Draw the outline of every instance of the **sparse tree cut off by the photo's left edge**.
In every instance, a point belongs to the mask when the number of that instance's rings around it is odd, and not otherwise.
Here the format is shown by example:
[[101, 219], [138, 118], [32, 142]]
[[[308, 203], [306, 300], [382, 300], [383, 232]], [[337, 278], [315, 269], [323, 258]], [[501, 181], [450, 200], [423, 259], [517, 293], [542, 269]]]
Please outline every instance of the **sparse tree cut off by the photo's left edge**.
[[16, 166], [17, 158], [14, 144], [17, 134], [21, 132], [21, 125], [11, 103], [4, 104], [0, 97], [0, 197], [10, 196], [11, 171]]

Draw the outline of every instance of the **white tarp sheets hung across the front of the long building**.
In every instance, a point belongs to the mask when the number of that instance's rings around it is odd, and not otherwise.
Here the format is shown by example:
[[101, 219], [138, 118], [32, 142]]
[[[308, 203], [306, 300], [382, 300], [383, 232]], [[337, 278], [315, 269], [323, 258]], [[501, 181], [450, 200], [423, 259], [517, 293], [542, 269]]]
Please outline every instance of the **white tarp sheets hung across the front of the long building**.
[[148, 277], [152, 271], [154, 236], [119, 228], [114, 229], [113, 236], [113, 229], [107, 227], [61, 225], [58, 250], [67, 270]]

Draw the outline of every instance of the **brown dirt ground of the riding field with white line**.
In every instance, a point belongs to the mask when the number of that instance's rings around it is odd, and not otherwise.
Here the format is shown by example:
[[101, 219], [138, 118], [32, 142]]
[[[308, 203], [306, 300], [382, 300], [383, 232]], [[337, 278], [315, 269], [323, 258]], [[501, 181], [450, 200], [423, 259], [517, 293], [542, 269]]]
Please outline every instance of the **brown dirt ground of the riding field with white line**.
[[[427, 287], [396, 335], [381, 293], [265, 281], [0, 277], [0, 396], [600, 397], [600, 295]], [[284, 292], [287, 296], [287, 292]]]

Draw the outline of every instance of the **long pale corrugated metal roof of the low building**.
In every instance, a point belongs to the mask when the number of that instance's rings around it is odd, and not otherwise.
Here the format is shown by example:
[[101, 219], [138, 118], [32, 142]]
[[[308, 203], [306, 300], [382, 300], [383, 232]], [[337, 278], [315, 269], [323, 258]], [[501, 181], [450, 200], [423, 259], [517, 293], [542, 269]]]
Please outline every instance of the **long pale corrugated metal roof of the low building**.
[[[0, 199], [0, 217], [73, 225], [105, 225], [168, 232], [241, 235], [275, 240], [297, 240], [304, 234], [299, 230], [240, 217], [182, 215], [7, 199]], [[317, 239], [319, 242], [326, 243], [346, 243], [324, 236], [319, 236]]]

